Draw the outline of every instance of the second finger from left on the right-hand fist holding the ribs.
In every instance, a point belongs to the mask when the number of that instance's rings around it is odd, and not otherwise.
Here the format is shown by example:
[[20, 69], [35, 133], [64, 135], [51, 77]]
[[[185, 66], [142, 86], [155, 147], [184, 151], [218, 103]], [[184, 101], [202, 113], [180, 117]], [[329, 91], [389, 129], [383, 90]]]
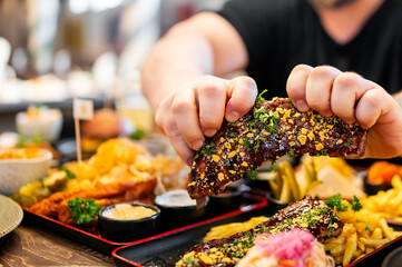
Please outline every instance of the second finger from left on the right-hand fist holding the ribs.
[[308, 75], [305, 98], [308, 107], [318, 111], [322, 116], [331, 116], [331, 90], [335, 78], [342, 73], [340, 70], [321, 66], [312, 69]]

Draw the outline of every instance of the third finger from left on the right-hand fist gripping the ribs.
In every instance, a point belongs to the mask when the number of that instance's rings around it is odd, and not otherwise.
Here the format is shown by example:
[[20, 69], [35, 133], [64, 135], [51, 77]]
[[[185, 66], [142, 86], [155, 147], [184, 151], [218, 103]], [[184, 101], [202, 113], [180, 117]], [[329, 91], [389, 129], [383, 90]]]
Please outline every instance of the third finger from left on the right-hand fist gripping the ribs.
[[332, 111], [342, 118], [346, 123], [353, 123], [355, 118], [356, 101], [370, 89], [378, 87], [374, 82], [365, 80], [353, 72], [339, 75], [332, 88], [331, 108]]

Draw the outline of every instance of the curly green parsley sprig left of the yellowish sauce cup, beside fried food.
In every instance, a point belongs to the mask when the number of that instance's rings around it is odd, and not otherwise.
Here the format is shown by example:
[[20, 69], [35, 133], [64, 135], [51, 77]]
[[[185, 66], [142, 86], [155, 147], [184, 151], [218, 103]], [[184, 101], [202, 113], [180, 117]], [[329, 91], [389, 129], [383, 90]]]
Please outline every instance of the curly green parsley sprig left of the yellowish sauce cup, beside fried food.
[[77, 225], [91, 222], [98, 216], [100, 209], [101, 207], [95, 204], [94, 198], [76, 198], [68, 201], [68, 211], [72, 214], [72, 220]]

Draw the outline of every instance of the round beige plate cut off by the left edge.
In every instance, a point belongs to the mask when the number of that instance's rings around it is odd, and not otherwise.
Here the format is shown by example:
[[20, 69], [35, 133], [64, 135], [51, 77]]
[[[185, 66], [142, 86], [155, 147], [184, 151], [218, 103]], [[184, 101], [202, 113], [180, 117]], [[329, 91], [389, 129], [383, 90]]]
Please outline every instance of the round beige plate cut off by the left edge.
[[10, 198], [0, 195], [0, 238], [16, 229], [22, 217], [21, 207]]

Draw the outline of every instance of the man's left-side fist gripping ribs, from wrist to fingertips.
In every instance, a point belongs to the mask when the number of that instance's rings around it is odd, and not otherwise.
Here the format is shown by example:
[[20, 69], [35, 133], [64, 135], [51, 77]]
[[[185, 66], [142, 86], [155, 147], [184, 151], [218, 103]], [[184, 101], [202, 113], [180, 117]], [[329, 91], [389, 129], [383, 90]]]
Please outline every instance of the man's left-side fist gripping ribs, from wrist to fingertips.
[[247, 113], [256, 97], [257, 87], [249, 77], [225, 80], [203, 76], [166, 96], [156, 109], [155, 121], [177, 155], [190, 165], [204, 136], [214, 136], [224, 117], [233, 122]]

